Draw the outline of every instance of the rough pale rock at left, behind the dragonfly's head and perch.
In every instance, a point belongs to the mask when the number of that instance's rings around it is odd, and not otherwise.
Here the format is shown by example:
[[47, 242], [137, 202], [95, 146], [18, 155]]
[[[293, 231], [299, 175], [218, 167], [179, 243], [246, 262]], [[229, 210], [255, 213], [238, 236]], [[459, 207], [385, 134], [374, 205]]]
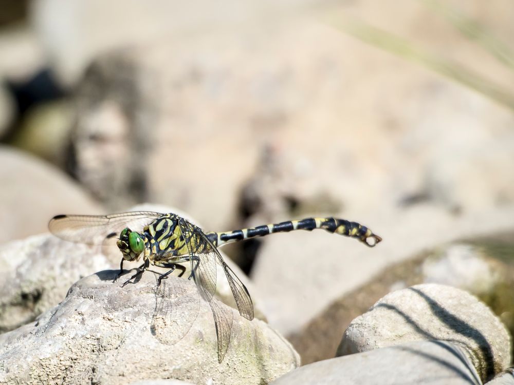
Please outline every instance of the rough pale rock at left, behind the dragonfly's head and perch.
[[63, 300], [72, 283], [114, 268], [98, 247], [38, 235], [0, 249], [0, 332], [32, 322]]

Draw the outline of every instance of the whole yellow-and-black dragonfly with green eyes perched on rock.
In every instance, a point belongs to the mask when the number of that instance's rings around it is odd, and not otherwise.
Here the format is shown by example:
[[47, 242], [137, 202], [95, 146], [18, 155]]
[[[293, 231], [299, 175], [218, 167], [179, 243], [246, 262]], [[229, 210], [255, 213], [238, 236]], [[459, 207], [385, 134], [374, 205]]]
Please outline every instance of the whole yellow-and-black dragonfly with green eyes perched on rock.
[[[116, 245], [122, 254], [120, 272], [114, 282], [123, 274], [124, 261], [139, 261], [142, 264], [137, 273], [126, 280], [122, 286], [136, 279], [149, 269], [150, 264], [168, 268], [160, 274], [157, 286], [160, 287], [163, 301], [170, 295], [170, 286], [162, 281], [178, 269], [182, 276], [190, 264], [188, 277], [193, 279], [200, 297], [211, 307], [214, 318], [218, 362], [221, 363], [227, 353], [232, 328], [232, 312], [214, 300], [216, 292], [217, 267], [221, 267], [228, 281], [240, 315], [248, 320], [254, 316], [253, 303], [246, 286], [224, 261], [218, 247], [227, 243], [262, 237], [274, 233], [293, 230], [324, 229], [329, 233], [356, 238], [365, 245], [373, 247], [382, 238], [371, 229], [357, 222], [334, 217], [305, 218], [229, 232], [204, 232], [200, 227], [186, 218], [173, 213], [163, 214], [154, 211], [129, 211], [105, 216], [92, 215], [57, 215], [53, 217], [48, 228], [57, 237], [78, 243], [105, 244], [117, 239]], [[167, 311], [164, 303], [156, 304], [156, 311]]]

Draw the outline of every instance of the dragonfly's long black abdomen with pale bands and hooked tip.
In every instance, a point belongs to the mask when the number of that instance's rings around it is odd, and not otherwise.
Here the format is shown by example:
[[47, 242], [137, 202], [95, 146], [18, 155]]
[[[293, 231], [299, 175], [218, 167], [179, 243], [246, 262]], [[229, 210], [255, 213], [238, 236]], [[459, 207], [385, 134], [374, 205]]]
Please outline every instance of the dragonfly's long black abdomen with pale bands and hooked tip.
[[[360, 223], [350, 222], [345, 219], [333, 217], [328, 218], [305, 218], [295, 221], [285, 221], [280, 223], [267, 224], [241, 230], [233, 230], [232, 232], [208, 233], [209, 240], [216, 246], [225, 243], [242, 241], [248, 238], [264, 237], [274, 233], [288, 233], [293, 230], [314, 230], [322, 228], [329, 233], [340, 234], [346, 237], [357, 238], [368, 246], [374, 246], [382, 239], [373, 234], [373, 232]], [[373, 243], [368, 243], [368, 238], [373, 239]]]

